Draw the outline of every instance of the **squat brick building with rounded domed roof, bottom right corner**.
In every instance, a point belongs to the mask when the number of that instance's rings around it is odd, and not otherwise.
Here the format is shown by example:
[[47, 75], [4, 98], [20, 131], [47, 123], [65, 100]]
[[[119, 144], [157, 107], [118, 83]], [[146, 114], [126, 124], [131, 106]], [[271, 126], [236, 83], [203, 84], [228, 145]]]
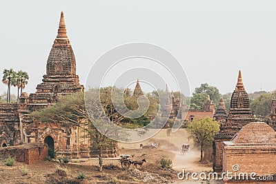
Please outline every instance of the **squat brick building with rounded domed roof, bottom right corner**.
[[[233, 172], [233, 178], [225, 176], [224, 183], [276, 182], [276, 136], [273, 128], [267, 123], [248, 123], [231, 141], [223, 142], [222, 151], [222, 171]], [[238, 165], [238, 169], [233, 170], [233, 165]], [[256, 176], [250, 178], [253, 172]], [[247, 178], [242, 175], [244, 173], [248, 174]]]

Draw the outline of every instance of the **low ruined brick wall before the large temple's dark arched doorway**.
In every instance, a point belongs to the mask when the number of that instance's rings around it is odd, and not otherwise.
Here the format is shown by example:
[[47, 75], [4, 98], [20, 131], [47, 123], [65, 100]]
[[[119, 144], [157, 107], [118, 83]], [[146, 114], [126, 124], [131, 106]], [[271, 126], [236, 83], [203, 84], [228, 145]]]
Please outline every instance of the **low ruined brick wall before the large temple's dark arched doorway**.
[[0, 148], [0, 159], [6, 159], [8, 156], [27, 164], [37, 163], [48, 156], [48, 145], [34, 143]]

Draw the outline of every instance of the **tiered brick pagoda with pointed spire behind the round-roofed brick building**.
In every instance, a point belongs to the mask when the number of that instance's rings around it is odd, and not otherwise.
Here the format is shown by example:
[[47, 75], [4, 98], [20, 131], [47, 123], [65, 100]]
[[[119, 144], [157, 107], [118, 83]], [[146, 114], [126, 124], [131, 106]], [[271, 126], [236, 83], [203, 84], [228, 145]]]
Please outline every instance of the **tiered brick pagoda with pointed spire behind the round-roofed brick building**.
[[213, 170], [215, 172], [222, 170], [222, 142], [230, 141], [244, 125], [254, 121], [252, 110], [249, 107], [249, 97], [242, 81], [242, 72], [239, 70], [237, 85], [231, 97], [229, 115], [225, 122], [221, 121], [220, 130], [215, 134], [213, 142]]

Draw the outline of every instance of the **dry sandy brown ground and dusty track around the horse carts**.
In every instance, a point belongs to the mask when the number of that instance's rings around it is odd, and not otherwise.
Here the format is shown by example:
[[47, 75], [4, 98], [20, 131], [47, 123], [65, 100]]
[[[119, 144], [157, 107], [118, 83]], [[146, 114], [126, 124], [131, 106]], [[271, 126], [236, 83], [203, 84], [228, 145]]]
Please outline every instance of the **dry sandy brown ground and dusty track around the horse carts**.
[[[199, 151], [193, 146], [193, 140], [188, 139], [186, 130], [179, 130], [175, 134], [168, 130], [161, 130], [152, 139], [141, 142], [150, 145], [152, 142], [160, 143], [157, 149], [141, 149], [140, 143], [121, 143], [120, 154], [133, 154], [134, 160], [146, 159], [146, 163], [138, 169], [122, 170], [118, 160], [105, 159], [103, 172], [97, 170], [97, 159], [73, 160], [70, 163], [57, 161], [41, 161], [34, 165], [16, 163], [9, 167], [0, 161], [0, 183], [173, 183], [177, 182], [177, 173], [185, 168], [187, 171], [209, 171], [210, 165], [199, 165]], [[190, 143], [191, 151], [181, 155], [179, 150], [182, 143]], [[171, 159], [173, 170], [162, 170], [157, 163], [162, 158]], [[23, 176], [22, 168], [28, 169]], [[66, 175], [58, 169], [66, 170]], [[77, 179], [84, 174], [84, 180]], [[60, 176], [61, 175], [61, 176]]]

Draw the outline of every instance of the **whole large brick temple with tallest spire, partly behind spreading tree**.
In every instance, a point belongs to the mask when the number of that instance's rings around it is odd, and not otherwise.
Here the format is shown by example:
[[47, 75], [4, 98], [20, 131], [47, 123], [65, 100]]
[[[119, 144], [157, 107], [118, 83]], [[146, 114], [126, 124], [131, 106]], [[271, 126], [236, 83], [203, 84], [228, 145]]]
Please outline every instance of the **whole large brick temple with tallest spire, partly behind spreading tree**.
[[[81, 127], [59, 123], [41, 123], [30, 118], [30, 112], [41, 110], [57, 102], [59, 96], [84, 92], [76, 74], [76, 59], [66, 34], [61, 12], [57, 38], [47, 60], [46, 74], [37, 91], [23, 93], [19, 104], [0, 104], [0, 146], [9, 147], [29, 143], [46, 143], [57, 149], [58, 156], [69, 158], [96, 157], [97, 146]], [[110, 143], [103, 156], [119, 154], [117, 143]]]

